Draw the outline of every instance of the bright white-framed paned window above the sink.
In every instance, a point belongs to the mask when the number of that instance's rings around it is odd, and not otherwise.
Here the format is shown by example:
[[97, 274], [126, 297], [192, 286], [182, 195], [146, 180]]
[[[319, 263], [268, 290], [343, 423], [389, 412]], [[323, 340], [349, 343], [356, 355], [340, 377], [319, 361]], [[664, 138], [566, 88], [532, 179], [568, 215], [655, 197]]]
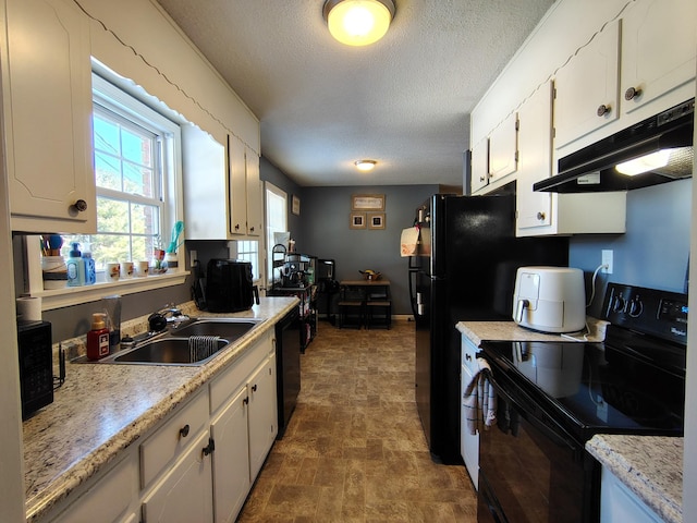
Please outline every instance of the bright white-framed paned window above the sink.
[[78, 242], [99, 272], [110, 262], [150, 260], [154, 248], [169, 246], [180, 130], [97, 74], [93, 102], [97, 234], [65, 236], [61, 254]]

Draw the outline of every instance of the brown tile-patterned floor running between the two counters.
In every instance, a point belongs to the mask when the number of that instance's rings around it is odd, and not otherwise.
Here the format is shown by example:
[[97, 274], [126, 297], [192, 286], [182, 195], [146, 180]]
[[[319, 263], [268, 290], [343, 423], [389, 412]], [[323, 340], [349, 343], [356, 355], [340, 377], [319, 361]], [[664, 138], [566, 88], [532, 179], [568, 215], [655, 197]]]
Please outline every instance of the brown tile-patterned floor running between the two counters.
[[414, 402], [414, 324], [321, 321], [282, 440], [240, 522], [474, 522], [464, 466], [431, 461]]

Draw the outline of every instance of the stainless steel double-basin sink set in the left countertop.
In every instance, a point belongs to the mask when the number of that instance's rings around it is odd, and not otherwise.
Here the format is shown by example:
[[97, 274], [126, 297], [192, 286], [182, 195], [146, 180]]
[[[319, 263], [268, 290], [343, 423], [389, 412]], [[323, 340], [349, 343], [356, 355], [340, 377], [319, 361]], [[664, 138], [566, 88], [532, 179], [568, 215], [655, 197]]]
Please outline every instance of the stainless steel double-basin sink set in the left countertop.
[[122, 349], [94, 362], [83, 357], [76, 363], [204, 365], [261, 321], [252, 318], [194, 318], [168, 326], [162, 333], [136, 343], [132, 349]]

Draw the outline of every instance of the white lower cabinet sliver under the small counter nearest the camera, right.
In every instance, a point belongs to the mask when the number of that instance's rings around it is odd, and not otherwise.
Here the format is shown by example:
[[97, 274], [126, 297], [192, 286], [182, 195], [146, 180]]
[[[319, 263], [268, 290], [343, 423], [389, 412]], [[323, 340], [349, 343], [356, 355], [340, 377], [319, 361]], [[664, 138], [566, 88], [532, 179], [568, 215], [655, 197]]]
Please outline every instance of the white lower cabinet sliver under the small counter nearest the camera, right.
[[600, 523], [631, 521], [632, 523], [662, 523], [636, 494], [604, 466], [600, 487]]

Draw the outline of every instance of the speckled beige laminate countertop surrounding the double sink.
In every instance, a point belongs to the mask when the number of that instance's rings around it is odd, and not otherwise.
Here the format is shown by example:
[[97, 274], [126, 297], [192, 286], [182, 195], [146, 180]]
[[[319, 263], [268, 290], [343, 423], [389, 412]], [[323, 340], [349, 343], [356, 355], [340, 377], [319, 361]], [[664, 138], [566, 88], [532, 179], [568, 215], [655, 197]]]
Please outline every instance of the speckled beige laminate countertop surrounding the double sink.
[[[296, 306], [297, 299], [265, 297], [260, 302], [250, 311], [225, 315], [199, 312], [192, 302], [182, 306], [182, 312], [192, 316], [266, 320], [203, 366], [69, 363], [65, 384], [56, 391], [53, 403], [23, 423], [27, 521], [44, 515], [237, 360]], [[122, 331], [133, 335], [147, 330], [147, 320], [142, 324], [124, 323]], [[74, 355], [80, 352], [78, 344], [71, 340], [63, 346]]]

